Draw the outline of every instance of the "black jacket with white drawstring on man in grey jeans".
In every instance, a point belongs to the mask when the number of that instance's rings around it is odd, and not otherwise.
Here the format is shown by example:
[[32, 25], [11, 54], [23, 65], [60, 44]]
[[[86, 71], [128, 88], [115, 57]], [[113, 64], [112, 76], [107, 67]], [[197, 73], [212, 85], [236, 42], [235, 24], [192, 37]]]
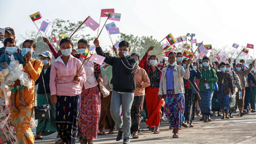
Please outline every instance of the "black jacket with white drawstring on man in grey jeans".
[[136, 88], [134, 80], [134, 72], [137, 68], [136, 60], [130, 55], [122, 58], [105, 55], [100, 46], [96, 47], [96, 52], [105, 57], [105, 63], [112, 66], [113, 77], [110, 83], [113, 84], [113, 89], [118, 92], [134, 93]]

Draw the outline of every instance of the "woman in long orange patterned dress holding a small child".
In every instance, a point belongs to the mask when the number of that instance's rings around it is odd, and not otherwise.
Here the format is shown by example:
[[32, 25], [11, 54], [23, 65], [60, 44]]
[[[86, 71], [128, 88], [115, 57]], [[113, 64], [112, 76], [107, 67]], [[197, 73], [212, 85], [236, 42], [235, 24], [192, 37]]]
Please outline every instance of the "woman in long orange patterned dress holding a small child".
[[[26, 60], [26, 64], [23, 67], [25, 69], [24, 72], [29, 74], [33, 82], [33, 87], [30, 90], [28, 90], [27, 87], [24, 88], [24, 100], [28, 106], [24, 106], [18, 101], [19, 93], [17, 93], [15, 105], [19, 112], [11, 110], [11, 119], [12, 124], [16, 129], [16, 136], [19, 143], [33, 144], [35, 138], [30, 129], [30, 121], [34, 110], [34, 82], [39, 78], [43, 68], [43, 63], [40, 60], [35, 60], [32, 58], [32, 54], [36, 51], [36, 45], [33, 40], [25, 40], [22, 47], [22, 53], [25, 54], [24, 58]], [[20, 86], [20, 81], [17, 80], [14, 86]]]

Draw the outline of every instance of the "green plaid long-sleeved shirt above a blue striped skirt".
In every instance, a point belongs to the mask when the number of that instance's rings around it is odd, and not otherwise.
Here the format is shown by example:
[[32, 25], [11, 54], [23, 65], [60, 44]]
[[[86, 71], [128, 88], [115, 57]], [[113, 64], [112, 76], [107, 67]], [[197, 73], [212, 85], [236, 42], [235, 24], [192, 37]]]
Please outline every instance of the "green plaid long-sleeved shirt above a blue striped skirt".
[[201, 92], [204, 91], [204, 89], [205, 89], [204, 80], [205, 79], [208, 79], [208, 81], [209, 81], [208, 85], [209, 85], [210, 89], [212, 91], [215, 90], [214, 83], [218, 81], [218, 77], [216, 75], [215, 70], [214, 69], [211, 70], [211, 67], [209, 67], [208, 70], [205, 70], [204, 68], [202, 68], [201, 74], [202, 74], [202, 78], [200, 79], [199, 90]]

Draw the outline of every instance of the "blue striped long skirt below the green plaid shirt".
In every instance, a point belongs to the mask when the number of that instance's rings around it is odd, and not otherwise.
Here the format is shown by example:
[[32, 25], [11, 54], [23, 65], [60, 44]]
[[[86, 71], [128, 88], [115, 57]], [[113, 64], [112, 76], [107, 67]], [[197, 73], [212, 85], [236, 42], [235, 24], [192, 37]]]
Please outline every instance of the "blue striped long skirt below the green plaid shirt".
[[200, 106], [201, 106], [201, 113], [209, 116], [211, 115], [211, 109], [212, 109], [212, 96], [213, 92], [211, 89], [206, 89], [202, 92], [200, 91]]

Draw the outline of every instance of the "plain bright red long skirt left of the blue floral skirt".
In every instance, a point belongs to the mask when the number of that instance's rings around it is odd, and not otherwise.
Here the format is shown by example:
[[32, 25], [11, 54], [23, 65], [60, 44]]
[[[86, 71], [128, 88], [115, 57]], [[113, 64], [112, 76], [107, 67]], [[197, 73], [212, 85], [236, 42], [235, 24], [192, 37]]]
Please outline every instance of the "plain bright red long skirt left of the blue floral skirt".
[[158, 99], [158, 88], [146, 88], [146, 104], [148, 111], [146, 124], [150, 127], [159, 126], [161, 101]]

